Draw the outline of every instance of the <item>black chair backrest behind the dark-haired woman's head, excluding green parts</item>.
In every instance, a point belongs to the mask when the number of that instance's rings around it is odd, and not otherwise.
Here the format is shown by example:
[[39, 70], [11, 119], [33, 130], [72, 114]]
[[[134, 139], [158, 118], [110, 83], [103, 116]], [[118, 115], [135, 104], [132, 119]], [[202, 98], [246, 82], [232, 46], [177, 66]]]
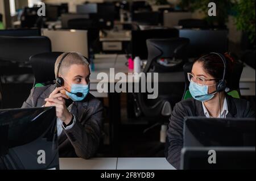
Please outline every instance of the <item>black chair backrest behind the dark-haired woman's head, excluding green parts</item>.
[[[185, 92], [189, 89], [189, 81], [188, 81], [188, 73], [191, 73], [193, 68], [193, 62], [188, 62], [183, 66], [184, 76], [185, 76]], [[243, 63], [241, 61], [233, 62], [233, 70], [232, 70], [232, 78], [229, 78], [229, 82], [227, 83], [227, 87], [230, 91], [236, 90], [241, 95], [240, 92], [240, 78], [243, 71]]]

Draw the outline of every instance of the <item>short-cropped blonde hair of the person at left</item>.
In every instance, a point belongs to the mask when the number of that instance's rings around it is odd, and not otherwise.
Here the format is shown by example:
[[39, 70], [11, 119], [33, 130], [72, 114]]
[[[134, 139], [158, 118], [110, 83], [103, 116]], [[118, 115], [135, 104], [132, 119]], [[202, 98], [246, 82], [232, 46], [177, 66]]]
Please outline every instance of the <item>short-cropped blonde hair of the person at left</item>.
[[67, 54], [67, 52], [62, 53], [59, 57], [57, 57], [57, 60], [55, 62], [54, 72], [55, 77], [57, 78], [60, 74], [63, 75], [67, 69], [73, 65], [89, 65], [88, 59], [86, 59], [84, 56], [82, 56], [79, 52], [70, 52], [68, 55], [64, 58], [64, 60], [61, 62], [60, 68], [59, 68], [59, 75], [57, 75], [57, 69], [60, 64], [60, 60], [63, 58], [63, 56]]

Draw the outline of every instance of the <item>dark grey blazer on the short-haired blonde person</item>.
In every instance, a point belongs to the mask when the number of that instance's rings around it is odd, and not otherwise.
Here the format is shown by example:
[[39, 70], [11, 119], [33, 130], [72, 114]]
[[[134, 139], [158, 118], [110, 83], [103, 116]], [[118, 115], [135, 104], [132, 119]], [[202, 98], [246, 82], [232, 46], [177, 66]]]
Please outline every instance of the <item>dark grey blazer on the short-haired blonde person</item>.
[[[42, 107], [55, 85], [34, 87], [22, 108]], [[60, 157], [92, 157], [102, 138], [103, 107], [100, 100], [88, 94], [81, 102], [73, 102], [68, 107], [76, 117], [76, 123], [71, 129], [64, 130], [58, 137]]]

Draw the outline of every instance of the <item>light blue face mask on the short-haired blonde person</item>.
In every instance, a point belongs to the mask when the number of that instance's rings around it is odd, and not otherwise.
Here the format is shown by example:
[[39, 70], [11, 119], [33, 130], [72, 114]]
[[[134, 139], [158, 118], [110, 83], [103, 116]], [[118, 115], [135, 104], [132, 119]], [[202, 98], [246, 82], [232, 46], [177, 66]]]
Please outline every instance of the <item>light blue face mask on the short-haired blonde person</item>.
[[71, 98], [73, 101], [81, 101], [83, 100], [86, 95], [89, 93], [89, 85], [83, 85], [83, 84], [72, 84], [71, 85], [71, 92], [76, 93], [76, 92], [81, 92], [82, 96], [79, 97], [76, 94], [72, 94], [68, 91], [66, 91], [66, 94]]

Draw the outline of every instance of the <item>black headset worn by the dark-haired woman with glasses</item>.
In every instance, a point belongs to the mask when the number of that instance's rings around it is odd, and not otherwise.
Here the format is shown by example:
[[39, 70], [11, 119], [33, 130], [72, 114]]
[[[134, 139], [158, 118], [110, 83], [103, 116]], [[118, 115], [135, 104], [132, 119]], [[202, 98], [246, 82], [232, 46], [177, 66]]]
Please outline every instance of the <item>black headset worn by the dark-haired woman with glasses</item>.
[[[216, 84], [216, 90], [213, 91], [210, 94], [215, 94], [216, 92], [221, 92], [224, 91], [226, 89], [226, 81], [225, 81], [225, 77], [226, 77], [226, 58], [221, 54], [221, 53], [216, 53], [216, 52], [210, 52], [209, 54], [216, 54], [217, 56], [219, 56], [223, 62], [224, 65], [224, 70], [223, 70], [223, 76], [222, 79], [220, 81], [218, 81], [218, 83]], [[201, 57], [204, 58], [206, 56], [208, 56], [209, 54]], [[199, 58], [199, 59], [201, 59]], [[209, 94], [205, 94], [205, 95], [209, 95]], [[199, 98], [201, 96], [205, 96], [205, 95], [197, 95], [196, 98]]]

